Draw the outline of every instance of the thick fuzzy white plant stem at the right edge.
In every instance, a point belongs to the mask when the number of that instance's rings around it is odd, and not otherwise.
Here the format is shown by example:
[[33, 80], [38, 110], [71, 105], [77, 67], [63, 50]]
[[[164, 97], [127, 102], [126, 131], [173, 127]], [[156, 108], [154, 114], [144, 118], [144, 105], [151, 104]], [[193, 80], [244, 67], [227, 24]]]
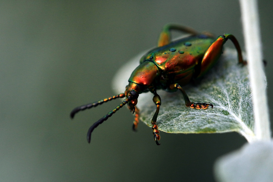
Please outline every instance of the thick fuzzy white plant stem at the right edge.
[[266, 77], [262, 63], [262, 46], [256, 0], [240, 0], [249, 79], [253, 94], [254, 134], [258, 140], [270, 140], [266, 95]]

